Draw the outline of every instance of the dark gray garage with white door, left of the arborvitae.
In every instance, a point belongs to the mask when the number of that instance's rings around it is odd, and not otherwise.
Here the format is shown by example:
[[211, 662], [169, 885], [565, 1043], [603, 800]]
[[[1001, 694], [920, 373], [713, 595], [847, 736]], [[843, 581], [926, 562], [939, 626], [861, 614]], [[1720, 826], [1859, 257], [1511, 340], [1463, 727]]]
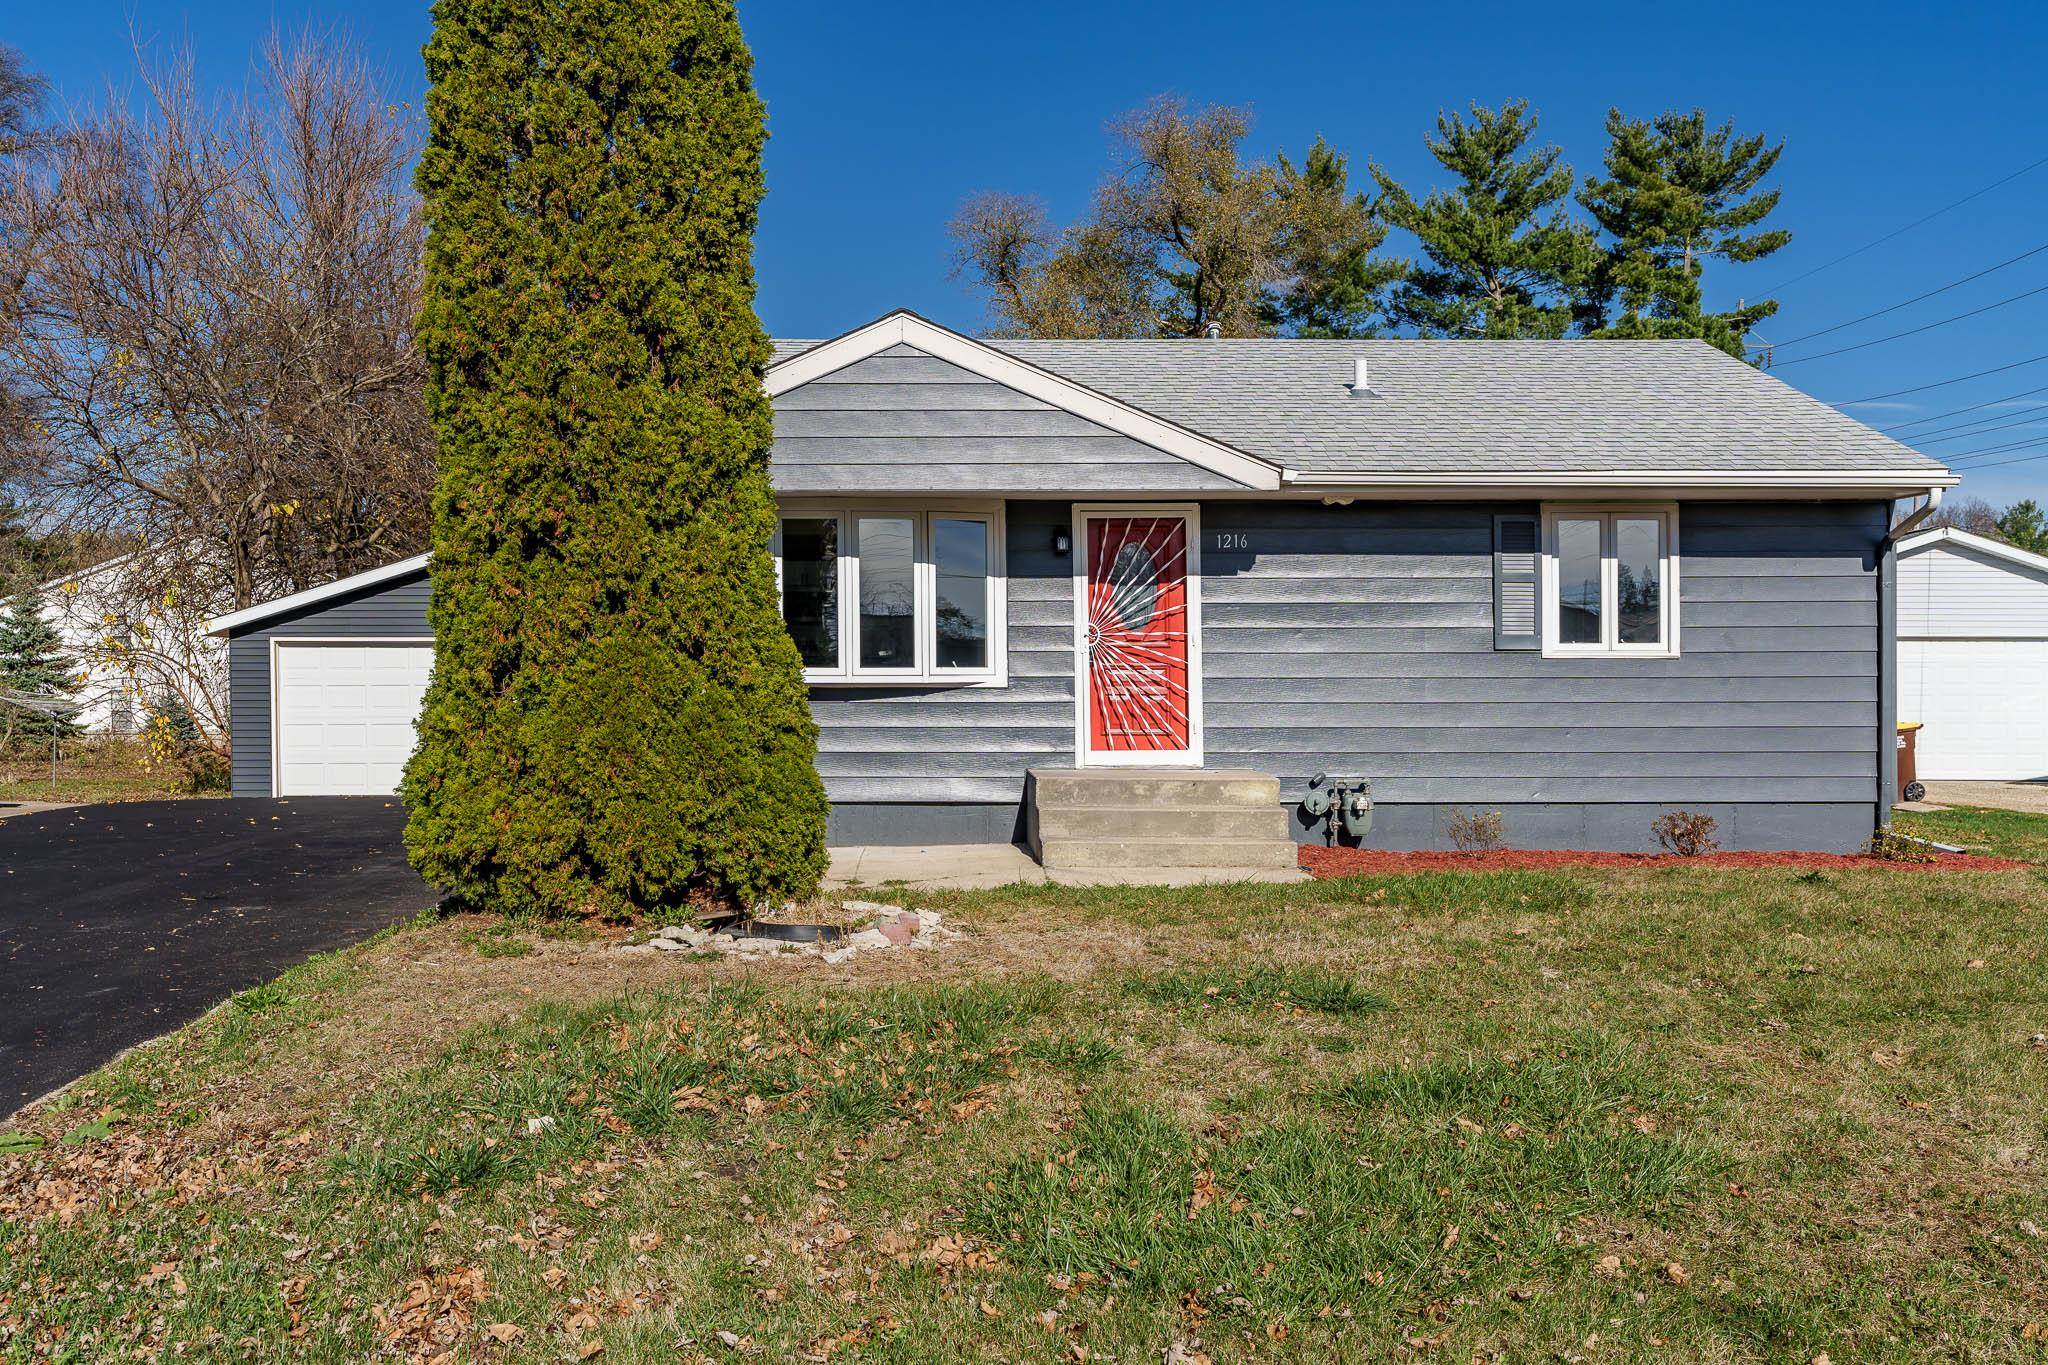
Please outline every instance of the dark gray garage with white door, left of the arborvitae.
[[211, 622], [236, 796], [391, 796], [434, 669], [426, 555]]

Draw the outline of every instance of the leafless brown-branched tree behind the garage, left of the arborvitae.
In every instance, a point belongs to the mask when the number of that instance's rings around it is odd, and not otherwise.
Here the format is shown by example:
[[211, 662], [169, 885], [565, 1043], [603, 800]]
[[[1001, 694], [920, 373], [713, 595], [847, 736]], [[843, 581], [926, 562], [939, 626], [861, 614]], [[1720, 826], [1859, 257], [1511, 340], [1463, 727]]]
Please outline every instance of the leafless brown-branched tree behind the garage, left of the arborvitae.
[[188, 57], [143, 65], [139, 98], [20, 158], [0, 381], [29, 422], [0, 491], [133, 551], [123, 596], [160, 616], [418, 551], [412, 149], [356, 55], [272, 39], [240, 98], [201, 100]]

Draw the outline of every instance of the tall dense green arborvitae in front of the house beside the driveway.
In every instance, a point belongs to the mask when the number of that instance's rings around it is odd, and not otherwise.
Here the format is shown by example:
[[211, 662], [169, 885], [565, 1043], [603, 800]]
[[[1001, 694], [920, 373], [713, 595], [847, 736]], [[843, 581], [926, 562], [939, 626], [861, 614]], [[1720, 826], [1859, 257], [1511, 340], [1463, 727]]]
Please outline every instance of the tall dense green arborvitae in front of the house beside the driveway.
[[807, 894], [825, 798], [768, 555], [733, 0], [436, 0], [426, 63], [414, 864], [508, 913]]

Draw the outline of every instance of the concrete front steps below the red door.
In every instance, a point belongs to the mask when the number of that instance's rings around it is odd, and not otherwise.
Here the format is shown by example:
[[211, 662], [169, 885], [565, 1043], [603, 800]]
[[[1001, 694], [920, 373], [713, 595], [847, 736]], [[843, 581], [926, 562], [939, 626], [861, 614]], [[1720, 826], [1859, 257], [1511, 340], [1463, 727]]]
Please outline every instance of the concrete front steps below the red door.
[[1296, 882], [1280, 780], [1241, 767], [1034, 767], [1024, 831], [1061, 882]]

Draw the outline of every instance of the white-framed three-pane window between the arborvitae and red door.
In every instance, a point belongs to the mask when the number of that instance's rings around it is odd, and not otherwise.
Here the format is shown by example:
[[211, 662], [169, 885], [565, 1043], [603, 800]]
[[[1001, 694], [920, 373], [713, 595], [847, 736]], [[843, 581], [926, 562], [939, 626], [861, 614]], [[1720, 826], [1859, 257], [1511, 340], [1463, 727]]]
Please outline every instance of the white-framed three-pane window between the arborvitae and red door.
[[1001, 508], [784, 505], [782, 620], [813, 684], [1001, 684]]

